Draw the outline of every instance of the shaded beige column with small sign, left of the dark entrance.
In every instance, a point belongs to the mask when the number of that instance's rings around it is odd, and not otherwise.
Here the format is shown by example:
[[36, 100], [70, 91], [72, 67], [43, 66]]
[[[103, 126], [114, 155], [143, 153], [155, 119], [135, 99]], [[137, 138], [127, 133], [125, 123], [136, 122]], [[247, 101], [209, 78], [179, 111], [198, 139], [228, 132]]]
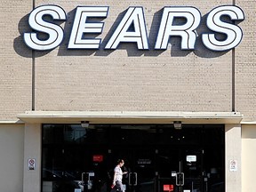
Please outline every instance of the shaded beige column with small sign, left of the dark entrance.
[[[41, 124], [25, 124], [23, 191], [41, 189]], [[28, 159], [36, 159], [36, 169], [28, 170]]]

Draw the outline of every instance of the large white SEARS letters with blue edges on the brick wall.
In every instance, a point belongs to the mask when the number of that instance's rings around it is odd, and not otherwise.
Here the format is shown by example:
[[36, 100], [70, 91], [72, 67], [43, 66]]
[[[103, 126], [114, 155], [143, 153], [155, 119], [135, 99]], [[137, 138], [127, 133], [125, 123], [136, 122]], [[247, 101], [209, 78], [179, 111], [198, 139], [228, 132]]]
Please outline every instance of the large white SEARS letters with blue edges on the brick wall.
[[[24, 41], [31, 49], [38, 51], [52, 50], [59, 46], [64, 38], [64, 30], [60, 25], [44, 20], [44, 16], [52, 20], [67, 20], [66, 12], [57, 5], [37, 7], [29, 15], [29, 26], [35, 32], [24, 33]], [[233, 22], [223, 21], [228, 16]], [[69, 37], [68, 49], [99, 49], [100, 38], [86, 35], [102, 33], [104, 22], [92, 22], [92, 18], [108, 17], [108, 6], [78, 6]], [[186, 22], [174, 25], [173, 20], [180, 18]], [[181, 37], [182, 50], [194, 50], [196, 44], [196, 28], [202, 20], [201, 12], [195, 7], [164, 7], [162, 19], [156, 36], [155, 50], [166, 50], [172, 36]], [[212, 9], [206, 20], [207, 27], [212, 30], [202, 35], [204, 46], [212, 51], [228, 51], [238, 45], [243, 38], [243, 31], [234, 24], [236, 20], [244, 20], [244, 12], [234, 5], [223, 5]], [[132, 30], [131, 30], [132, 26]], [[38, 33], [48, 35], [47, 39], [39, 38]], [[215, 33], [215, 34], [214, 34]], [[218, 39], [216, 33], [224, 34], [226, 39]], [[139, 50], [148, 50], [148, 32], [143, 7], [131, 6], [119, 22], [115, 32], [108, 39], [105, 49], [116, 50], [120, 43], [137, 44]]]

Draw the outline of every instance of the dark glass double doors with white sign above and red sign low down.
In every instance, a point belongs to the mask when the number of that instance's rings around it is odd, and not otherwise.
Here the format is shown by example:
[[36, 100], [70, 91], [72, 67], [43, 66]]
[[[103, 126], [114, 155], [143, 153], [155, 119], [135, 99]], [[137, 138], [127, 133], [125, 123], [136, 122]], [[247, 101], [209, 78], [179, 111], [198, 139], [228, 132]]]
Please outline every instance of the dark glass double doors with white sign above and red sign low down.
[[158, 191], [204, 191], [203, 151], [161, 148], [157, 150]]

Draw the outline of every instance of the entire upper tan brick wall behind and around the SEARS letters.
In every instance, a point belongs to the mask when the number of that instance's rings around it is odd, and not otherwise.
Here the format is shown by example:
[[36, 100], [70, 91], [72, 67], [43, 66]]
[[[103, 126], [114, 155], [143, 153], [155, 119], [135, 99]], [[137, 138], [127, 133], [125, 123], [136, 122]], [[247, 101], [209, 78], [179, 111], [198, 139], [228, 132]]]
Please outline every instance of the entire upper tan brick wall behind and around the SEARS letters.
[[[22, 10], [13, 22], [19, 23], [22, 17], [31, 11], [24, 1], [12, 1], [16, 5], [6, 12]], [[32, 1], [31, 1], [32, 2]], [[28, 4], [31, 4], [28, 1]], [[244, 30], [243, 42], [236, 48], [236, 110], [243, 112], [246, 119], [253, 119], [252, 102], [255, 97], [253, 87], [253, 52], [248, 51], [252, 41], [255, 5], [252, 1], [236, 1], [244, 10], [246, 20], [241, 22]], [[250, 3], [251, 2], [251, 3]], [[247, 5], [251, 4], [250, 6]], [[232, 4], [229, 1], [37, 1], [41, 4], [58, 4], [67, 12], [68, 20], [61, 26], [65, 30], [65, 39], [60, 47], [51, 52], [35, 52], [35, 109], [36, 110], [131, 110], [131, 111], [231, 111], [232, 110], [232, 52], [212, 52], [202, 44], [202, 33], [208, 32], [205, 27], [206, 14], [214, 7]], [[76, 6], [108, 5], [108, 18], [102, 34], [102, 46], [99, 51], [67, 50], [68, 37], [72, 28]], [[124, 11], [130, 5], [144, 7], [148, 28], [149, 51], [138, 51], [135, 44], [120, 44], [116, 51], [104, 50], [104, 45], [115, 30]], [[194, 52], [180, 50], [180, 38], [174, 37], [164, 52], [155, 51], [154, 42], [161, 20], [161, 10], [168, 5], [195, 6], [202, 13], [203, 19], [197, 33]], [[8, 6], [4, 5], [8, 8]], [[253, 9], [254, 6], [254, 9]], [[26, 9], [21, 9], [26, 7]], [[3, 8], [2, 8], [3, 9]], [[24, 10], [24, 11], [23, 11]], [[123, 14], [122, 14], [123, 12]], [[23, 21], [23, 20], [21, 20]], [[28, 23], [21, 27], [25, 31]], [[1, 19], [3, 22], [3, 19]], [[28, 18], [27, 18], [28, 22]], [[6, 20], [4, 25], [7, 25]], [[114, 27], [112, 27], [114, 25]], [[12, 26], [13, 36], [19, 36], [17, 25]], [[16, 30], [16, 31], [15, 31]], [[2, 31], [0, 33], [3, 33]], [[16, 33], [16, 34], [15, 34]], [[251, 36], [251, 37], [250, 37]], [[3, 35], [2, 35], [3, 38]], [[19, 39], [22, 49], [13, 50], [4, 59], [6, 68], [13, 61], [22, 66], [22, 71], [15, 66], [14, 76], [20, 82], [9, 92], [24, 92], [23, 102], [11, 100], [8, 93], [4, 98], [12, 106], [6, 105], [9, 116], [31, 108], [31, 52]], [[1, 43], [1, 47], [5, 47]], [[252, 44], [250, 44], [252, 45]], [[253, 46], [253, 45], [252, 45]], [[6, 48], [4, 48], [6, 49]], [[14, 49], [18, 49], [17, 47]], [[19, 48], [20, 49], [20, 48]], [[250, 56], [247, 57], [247, 54]], [[4, 57], [7, 57], [4, 53]], [[249, 60], [250, 59], [250, 60]], [[2, 60], [2, 59], [1, 59]], [[23, 63], [23, 64], [22, 64]], [[250, 63], [250, 64], [249, 64]], [[245, 65], [245, 66], [244, 66]], [[4, 76], [3, 79], [6, 79]], [[14, 80], [11, 79], [13, 82]], [[23, 84], [22, 82], [27, 82]], [[244, 84], [246, 82], [246, 84]], [[21, 85], [20, 85], [21, 84]], [[0, 86], [2, 86], [0, 84]], [[1, 87], [0, 87], [1, 88]], [[2, 88], [1, 88], [2, 89]], [[2, 94], [2, 93], [1, 93]], [[1, 96], [2, 97], [2, 96]], [[243, 100], [243, 103], [242, 103]], [[26, 103], [26, 106], [23, 106]], [[255, 103], [255, 102], [253, 102]], [[19, 106], [19, 107], [18, 107]], [[6, 114], [6, 113], [4, 113]], [[5, 116], [5, 115], [2, 116]], [[1, 115], [0, 115], [1, 116]]]

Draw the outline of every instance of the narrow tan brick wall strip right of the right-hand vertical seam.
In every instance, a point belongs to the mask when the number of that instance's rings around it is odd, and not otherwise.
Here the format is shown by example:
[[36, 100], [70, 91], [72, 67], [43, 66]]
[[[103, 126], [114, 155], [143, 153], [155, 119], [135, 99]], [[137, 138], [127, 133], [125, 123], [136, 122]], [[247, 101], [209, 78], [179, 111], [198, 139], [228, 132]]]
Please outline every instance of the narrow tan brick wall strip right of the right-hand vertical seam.
[[239, 24], [244, 30], [242, 43], [236, 48], [236, 110], [244, 120], [256, 120], [256, 4], [255, 1], [238, 0], [244, 10], [245, 20]]

